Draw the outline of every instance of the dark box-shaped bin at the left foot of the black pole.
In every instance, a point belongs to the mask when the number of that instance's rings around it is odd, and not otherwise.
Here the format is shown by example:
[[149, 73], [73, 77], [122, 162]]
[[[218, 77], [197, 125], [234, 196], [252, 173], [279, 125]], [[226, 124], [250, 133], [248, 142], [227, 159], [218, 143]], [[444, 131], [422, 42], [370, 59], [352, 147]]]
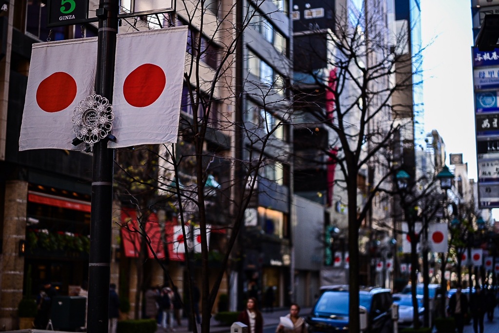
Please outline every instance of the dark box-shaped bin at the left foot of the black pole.
[[85, 326], [86, 300], [79, 296], [53, 297], [50, 319], [54, 330], [76, 331]]

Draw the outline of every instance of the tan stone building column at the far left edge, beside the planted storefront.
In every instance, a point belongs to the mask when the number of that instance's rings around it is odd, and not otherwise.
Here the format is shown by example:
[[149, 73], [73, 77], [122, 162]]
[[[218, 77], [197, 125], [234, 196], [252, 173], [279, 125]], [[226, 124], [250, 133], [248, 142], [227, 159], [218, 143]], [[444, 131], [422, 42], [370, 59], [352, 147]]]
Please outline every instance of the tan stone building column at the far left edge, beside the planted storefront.
[[17, 327], [17, 305], [22, 299], [24, 257], [19, 256], [19, 242], [26, 234], [28, 183], [20, 180], [5, 183], [2, 249], [0, 256], [0, 331]]

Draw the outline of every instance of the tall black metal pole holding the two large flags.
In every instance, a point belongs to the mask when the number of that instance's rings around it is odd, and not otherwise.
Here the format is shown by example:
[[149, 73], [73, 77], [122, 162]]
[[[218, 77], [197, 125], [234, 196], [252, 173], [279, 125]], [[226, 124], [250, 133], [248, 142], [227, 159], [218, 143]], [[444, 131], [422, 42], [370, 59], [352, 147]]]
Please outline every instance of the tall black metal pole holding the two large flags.
[[[112, 102], [114, 55], [118, 33], [118, 0], [100, 0], [95, 93]], [[107, 140], [93, 147], [87, 332], [108, 332], [111, 262], [113, 155]]]

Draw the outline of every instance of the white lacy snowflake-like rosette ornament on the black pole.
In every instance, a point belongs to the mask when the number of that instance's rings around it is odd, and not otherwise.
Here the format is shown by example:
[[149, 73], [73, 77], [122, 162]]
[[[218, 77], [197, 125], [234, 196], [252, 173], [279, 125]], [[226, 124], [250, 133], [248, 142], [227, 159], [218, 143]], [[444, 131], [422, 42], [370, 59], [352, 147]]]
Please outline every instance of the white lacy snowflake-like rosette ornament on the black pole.
[[78, 102], [73, 111], [73, 132], [79, 140], [90, 146], [107, 137], [114, 119], [113, 106], [109, 100], [92, 92]]

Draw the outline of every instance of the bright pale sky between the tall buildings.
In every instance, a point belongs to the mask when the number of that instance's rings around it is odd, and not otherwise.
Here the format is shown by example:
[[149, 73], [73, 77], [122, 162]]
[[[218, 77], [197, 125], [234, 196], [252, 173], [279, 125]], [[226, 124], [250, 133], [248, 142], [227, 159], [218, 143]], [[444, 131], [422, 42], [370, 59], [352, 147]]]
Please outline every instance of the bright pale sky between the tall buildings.
[[421, 0], [425, 132], [436, 129], [447, 151], [463, 153], [477, 180], [471, 0]]

